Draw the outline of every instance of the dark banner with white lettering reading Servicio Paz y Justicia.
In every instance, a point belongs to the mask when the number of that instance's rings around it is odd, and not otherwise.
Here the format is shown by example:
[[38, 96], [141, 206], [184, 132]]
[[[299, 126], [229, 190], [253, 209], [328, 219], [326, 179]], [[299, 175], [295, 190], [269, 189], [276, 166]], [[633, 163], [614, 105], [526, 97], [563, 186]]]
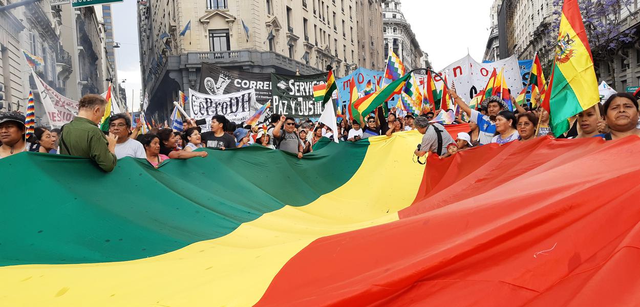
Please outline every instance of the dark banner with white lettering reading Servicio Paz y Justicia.
[[273, 113], [294, 118], [315, 118], [322, 114], [322, 102], [314, 101], [314, 86], [326, 83], [327, 73], [315, 75], [271, 74]]

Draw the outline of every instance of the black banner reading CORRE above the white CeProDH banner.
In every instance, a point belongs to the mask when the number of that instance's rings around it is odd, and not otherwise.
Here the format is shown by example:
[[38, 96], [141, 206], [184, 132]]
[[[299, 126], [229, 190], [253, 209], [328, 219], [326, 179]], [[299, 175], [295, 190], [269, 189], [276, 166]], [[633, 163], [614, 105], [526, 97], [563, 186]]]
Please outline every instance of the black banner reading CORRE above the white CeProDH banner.
[[200, 93], [225, 95], [255, 90], [255, 100], [260, 106], [271, 100], [271, 74], [259, 72], [239, 72], [227, 70], [208, 63], [202, 63], [200, 70]]

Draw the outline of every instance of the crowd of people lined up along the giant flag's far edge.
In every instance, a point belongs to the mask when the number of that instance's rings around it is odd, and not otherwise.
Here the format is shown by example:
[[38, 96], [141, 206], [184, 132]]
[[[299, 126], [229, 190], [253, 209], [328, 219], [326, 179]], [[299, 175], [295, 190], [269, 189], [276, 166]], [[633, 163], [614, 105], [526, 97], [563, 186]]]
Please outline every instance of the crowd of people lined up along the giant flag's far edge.
[[[424, 134], [415, 155], [422, 157], [431, 152], [444, 159], [490, 143], [504, 145], [553, 136], [549, 114], [541, 107], [532, 109], [514, 103], [515, 112], [512, 112], [502, 98], [493, 96], [474, 109], [455, 91], [451, 91], [451, 97], [461, 110], [454, 123], [468, 122], [469, 127], [468, 132], [458, 133], [455, 139], [445, 125], [434, 122], [442, 110], [397, 116], [395, 108], [385, 112], [382, 107], [369, 116], [339, 118], [336, 131], [312, 120], [296, 122], [295, 118], [273, 114], [265, 125], [243, 126], [216, 115], [211, 118], [210, 129], [206, 132], [202, 132], [195, 121], [187, 120], [182, 132], [164, 127], [140, 134], [140, 123], [132, 129], [131, 116], [123, 113], [111, 115], [109, 131], [105, 133], [98, 125], [106, 109], [106, 100], [100, 95], [85, 95], [79, 101], [74, 120], [61, 129], [36, 127], [29, 138], [25, 137], [23, 114], [0, 113], [0, 159], [20, 152], [59, 153], [92, 159], [104, 171], [111, 171], [118, 159], [124, 157], [146, 159], [157, 168], [168, 159], [207, 157], [207, 152], [199, 148], [227, 150], [253, 144], [289, 152], [303, 159], [304, 155], [313, 152], [314, 145], [322, 138], [355, 142], [406, 130]], [[515, 102], [515, 99], [512, 97], [511, 101]], [[574, 116], [571, 129], [560, 138], [612, 140], [630, 135], [640, 136], [638, 100], [629, 93], [616, 93], [604, 104], [596, 104]]]

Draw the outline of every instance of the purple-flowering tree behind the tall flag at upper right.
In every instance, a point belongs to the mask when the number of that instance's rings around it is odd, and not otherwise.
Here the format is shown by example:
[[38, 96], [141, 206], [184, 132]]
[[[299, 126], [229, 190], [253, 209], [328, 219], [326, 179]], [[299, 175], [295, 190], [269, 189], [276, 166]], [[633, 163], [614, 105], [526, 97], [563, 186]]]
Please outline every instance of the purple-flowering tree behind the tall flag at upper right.
[[[551, 67], [557, 44], [557, 33], [564, 0], [553, 0], [556, 10], [551, 22], [545, 29], [546, 38], [538, 52], [545, 67]], [[633, 0], [578, 0], [582, 22], [589, 38], [589, 45], [596, 63], [605, 63], [616, 84], [614, 60], [616, 56], [627, 58], [623, 54], [625, 45], [635, 39], [635, 29], [622, 29], [621, 13], [632, 13]]]

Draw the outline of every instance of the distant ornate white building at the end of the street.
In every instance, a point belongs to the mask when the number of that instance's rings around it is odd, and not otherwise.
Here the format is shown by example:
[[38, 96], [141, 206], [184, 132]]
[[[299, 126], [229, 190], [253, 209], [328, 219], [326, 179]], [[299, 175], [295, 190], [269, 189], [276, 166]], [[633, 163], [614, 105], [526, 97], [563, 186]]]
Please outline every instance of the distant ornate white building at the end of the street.
[[383, 34], [385, 36], [385, 57], [383, 65], [386, 65], [388, 49], [400, 57], [406, 70], [419, 68], [420, 58], [424, 55], [420, 44], [415, 38], [411, 25], [404, 19], [401, 11], [400, 0], [384, 0], [383, 7]]

